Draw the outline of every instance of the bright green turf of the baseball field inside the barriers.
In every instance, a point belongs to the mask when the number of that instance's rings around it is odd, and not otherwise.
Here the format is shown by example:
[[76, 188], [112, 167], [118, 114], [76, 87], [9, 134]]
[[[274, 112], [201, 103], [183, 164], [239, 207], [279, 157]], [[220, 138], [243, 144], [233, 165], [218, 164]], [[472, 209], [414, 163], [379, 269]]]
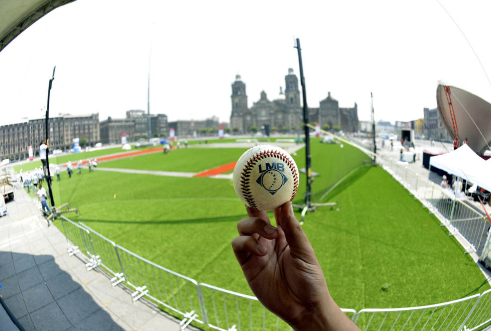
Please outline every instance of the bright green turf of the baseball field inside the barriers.
[[[313, 184], [316, 196], [357, 169], [323, 199], [338, 201], [339, 211], [318, 209], [307, 215], [303, 226], [340, 306], [359, 310], [426, 305], [489, 288], [435, 216], [381, 168], [361, 166], [367, 160], [363, 153], [346, 145], [311, 147], [312, 170], [321, 173]], [[181, 149], [101, 167], [145, 169], [161, 160], [158, 170], [200, 171], [214, 167], [211, 160], [235, 161], [243, 151]], [[295, 157], [300, 168], [303, 153]], [[79, 216], [69, 214], [70, 219], [198, 282], [251, 294], [230, 245], [236, 223], [246, 217], [230, 180], [85, 170], [71, 179], [62, 173], [62, 181], [53, 183], [56, 200], [69, 200], [80, 210]], [[298, 202], [304, 185], [301, 178]], [[60, 227], [60, 222], [55, 224]]]

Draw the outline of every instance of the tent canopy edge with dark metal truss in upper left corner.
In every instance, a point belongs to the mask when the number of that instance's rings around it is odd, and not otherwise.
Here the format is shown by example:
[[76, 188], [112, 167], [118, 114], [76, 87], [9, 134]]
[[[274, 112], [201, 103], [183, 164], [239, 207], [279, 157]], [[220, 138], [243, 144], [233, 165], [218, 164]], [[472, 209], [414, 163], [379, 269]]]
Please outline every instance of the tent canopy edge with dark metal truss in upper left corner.
[[0, 52], [34, 22], [74, 0], [0, 1]]

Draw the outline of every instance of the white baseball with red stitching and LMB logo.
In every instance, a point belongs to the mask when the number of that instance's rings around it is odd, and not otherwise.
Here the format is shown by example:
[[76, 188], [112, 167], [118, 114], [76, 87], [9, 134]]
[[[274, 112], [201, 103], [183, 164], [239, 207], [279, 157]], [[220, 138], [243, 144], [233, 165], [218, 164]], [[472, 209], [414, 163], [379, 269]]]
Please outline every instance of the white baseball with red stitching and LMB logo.
[[271, 210], [293, 200], [298, 168], [282, 148], [259, 145], [244, 152], [233, 169], [233, 188], [252, 208]]

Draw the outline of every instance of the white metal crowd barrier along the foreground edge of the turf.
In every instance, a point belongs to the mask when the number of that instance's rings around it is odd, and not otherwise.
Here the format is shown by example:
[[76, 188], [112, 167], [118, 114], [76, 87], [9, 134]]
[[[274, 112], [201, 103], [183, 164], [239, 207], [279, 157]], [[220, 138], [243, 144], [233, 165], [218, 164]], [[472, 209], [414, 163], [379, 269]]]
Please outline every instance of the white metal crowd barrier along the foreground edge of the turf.
[[[198, 283], [128, 251], [65, 216], [61, 216], [61, 224], [69, 255], [81, 255], [88, 271], [102, 268], [113, 287], [120, 284], [133, 291], [134, 301], [145, 297], [180, 315], [182, 329], [193, 321], [222, 331], [291, 329], [254, 296]], [[364, 330], [476, 330], [491, 321], [491, 290], [429, 306], [342, 310]]]

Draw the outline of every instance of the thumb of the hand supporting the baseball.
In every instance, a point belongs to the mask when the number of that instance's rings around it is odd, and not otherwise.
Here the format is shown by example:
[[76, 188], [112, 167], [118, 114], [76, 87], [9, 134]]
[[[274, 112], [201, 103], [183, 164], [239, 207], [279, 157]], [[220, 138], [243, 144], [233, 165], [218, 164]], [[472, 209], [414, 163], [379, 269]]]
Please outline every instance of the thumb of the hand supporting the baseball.
[[315, 257], [312, 245], [310, 245], [307, 236], [293, 213], [291, 201], [275, 209], [274, 214], [276, 223], [285, 234], [291, 254], [304, 262], [317, 264], [317, 258]]

